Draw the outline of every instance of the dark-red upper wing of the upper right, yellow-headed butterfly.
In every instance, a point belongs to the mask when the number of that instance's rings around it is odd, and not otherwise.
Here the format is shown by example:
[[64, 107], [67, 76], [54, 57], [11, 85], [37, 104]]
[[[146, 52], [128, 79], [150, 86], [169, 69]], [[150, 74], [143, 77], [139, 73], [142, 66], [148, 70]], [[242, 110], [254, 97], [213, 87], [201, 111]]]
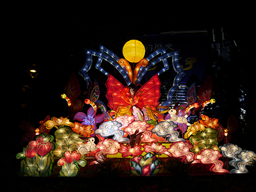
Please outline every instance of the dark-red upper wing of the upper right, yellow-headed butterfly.
[[203, 102], [210, 100], [212, 96], [212, 79], [210, 76], [207, 77], [205, 82], [201, 84], [200, 88], [198, 89], [198, 105], [201, 106]]

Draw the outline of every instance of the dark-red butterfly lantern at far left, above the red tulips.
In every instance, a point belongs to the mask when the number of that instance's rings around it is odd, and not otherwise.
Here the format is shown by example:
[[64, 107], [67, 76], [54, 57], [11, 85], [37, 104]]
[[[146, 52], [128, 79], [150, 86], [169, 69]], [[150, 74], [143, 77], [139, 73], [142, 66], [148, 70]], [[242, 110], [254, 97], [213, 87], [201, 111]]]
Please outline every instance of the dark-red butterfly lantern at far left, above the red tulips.
[[42, 132], [48, 134], [49, 131], [51, 131], [50, 129], [46, 129], [46, 125], [44, 125], [45, 122], [47, 122], [47, 120], [50, 120], [50, 116], [46, 116], [46, 118], [44, 119], [43, 122], [40, 122], [41, 125], [40, 127], [38, 127], [37, 129], [35, 129], [29, 122], [26, 121], [22, 121], [21, 125], [19, 125], [19, 127], [21, 127], [21, 129], [23, 131], [25, 131], [25, 133], [22, 135], [22, 141], [21, 143], [23, 143], [24, 141], [31, 141], [33, 140], [33, 138], [35, 138], [36, 135], [41, 134]]

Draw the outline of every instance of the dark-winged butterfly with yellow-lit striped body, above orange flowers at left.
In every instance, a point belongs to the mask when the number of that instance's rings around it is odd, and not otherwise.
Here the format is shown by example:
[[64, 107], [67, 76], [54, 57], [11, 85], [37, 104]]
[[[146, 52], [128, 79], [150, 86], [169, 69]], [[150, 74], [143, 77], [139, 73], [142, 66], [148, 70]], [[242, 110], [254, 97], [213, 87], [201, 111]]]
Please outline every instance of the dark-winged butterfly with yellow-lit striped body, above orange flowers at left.
[[83, 101], [78, 99], [81, 93], [80, 84], [76, 75], [73, 73], [65, 87], [65, 93], [61, 95], [62, 99], [67, 100], [67, 105], [71, 107], [71, 117], [83, 109]]

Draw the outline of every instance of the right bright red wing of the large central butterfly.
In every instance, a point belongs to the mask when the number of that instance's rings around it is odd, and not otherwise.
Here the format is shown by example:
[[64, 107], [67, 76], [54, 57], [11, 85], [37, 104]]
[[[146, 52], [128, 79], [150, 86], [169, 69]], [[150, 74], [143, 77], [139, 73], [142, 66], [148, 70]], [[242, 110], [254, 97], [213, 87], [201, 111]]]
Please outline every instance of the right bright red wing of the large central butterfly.
[[160, 94], [160, 80], [157, 74], [151, 77], [135, 94], [140, 94], [144, 106], [153, 106], [156, 108], [159, 105]]

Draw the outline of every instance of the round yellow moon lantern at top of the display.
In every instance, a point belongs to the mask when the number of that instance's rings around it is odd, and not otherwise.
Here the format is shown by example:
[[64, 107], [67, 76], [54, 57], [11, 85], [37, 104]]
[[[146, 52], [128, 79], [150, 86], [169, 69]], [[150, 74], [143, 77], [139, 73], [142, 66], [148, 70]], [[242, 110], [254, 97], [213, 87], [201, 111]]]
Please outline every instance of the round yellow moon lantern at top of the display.
[[131, 63], [138, 63], [144, 58], [145, 47], [138, 40], [130, 40], [123, 47], [124, 58]]

